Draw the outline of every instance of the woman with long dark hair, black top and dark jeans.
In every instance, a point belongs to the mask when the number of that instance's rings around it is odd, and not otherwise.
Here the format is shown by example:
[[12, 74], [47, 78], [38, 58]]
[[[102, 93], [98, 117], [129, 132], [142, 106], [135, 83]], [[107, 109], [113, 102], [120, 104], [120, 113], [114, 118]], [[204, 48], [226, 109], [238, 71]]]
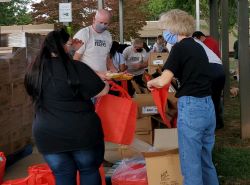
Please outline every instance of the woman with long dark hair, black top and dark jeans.
[[33, 135], [57, 185], [76, 185], [77, 170], [81, 185], [100, 185], [104, 140], [91, 98], [106, 94], [109, 86], [86, 64], [70, 59], [70, 42], [65, 30], [50, 32], [28, 67]]

